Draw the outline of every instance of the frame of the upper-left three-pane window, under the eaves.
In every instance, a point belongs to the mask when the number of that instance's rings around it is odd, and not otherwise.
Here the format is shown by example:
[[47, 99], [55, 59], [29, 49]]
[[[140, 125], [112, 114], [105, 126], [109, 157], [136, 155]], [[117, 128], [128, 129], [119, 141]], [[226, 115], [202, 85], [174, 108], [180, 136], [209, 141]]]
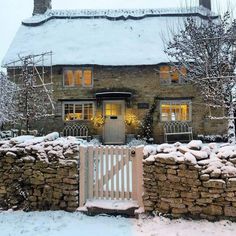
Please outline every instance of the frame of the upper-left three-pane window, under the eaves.
[[[72, 85], [66, 85], [65, 84], [65, 72], [71, 70], [73, 72], [73, 84]], [[80, 86], [76, 85], [75, 83], [75, 77], [74, 72], [76, 70], [82, 71], [82, 83]], [[86, 86], [84, 83], [84, 71], [90, 70], [91, 71], [91, 85]], [[92, 67], [64, 67], [63, 68], [63, 87], [66, 88], [93, 88], [94, 78], [93, 78], [93, 68]]]

